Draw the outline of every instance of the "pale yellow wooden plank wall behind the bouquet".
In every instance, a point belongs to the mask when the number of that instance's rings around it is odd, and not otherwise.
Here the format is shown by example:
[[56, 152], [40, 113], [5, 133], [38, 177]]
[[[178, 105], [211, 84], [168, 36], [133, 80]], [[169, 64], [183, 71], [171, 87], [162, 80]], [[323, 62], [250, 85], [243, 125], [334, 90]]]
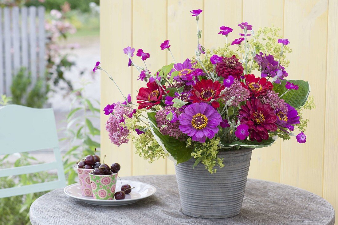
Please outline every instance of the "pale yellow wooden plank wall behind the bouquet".
[[[203, 9], [200, 15], [206, 48], [223, 45], [219, 27], [234, 28], [233, 40], [248, 21], [254, 29], [281, 27], [293, 52], [287, 68], [290, 78], [309, 81], [316, 109], [305, 113], [310, 119], [307, 142], [277, 141], [272, 147], [252, 153], [250, 178], [297, 186], [327, 199], [338, 209], [338, 0], [101, 0], [101, 66], [116, 80], [122, 91], [135, 102], [140, 85], [135, 68], [128, 68], [123, 48], [132, 46], [150, 53], [147, 66], [156, 71], [172, 62], [160, 44], [169, 39], [177, 62], [194, 55], [196, 21], [190, 10]], [[139, 62], [136, 59], [136, 62]], [[101, 73], [101, 108], [121, 100], [120, 93]], [[121, 176], [174, 174], [173, 163], [161, 159], [152, 164], [134, 152], [131, 143], [114, 146], [105, 131], [107, 116], [101, 114], [101, 152], [106, 161], [122, 165]]]

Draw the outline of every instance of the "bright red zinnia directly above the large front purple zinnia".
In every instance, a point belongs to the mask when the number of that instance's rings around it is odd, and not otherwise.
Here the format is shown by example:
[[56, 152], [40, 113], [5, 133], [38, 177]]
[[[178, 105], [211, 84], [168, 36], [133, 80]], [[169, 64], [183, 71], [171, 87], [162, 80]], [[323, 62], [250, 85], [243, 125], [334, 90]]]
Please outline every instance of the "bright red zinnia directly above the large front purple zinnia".
[[219, 107], [219, 103], [216, 99], [220, 98], [223, 95], [220, 95], [220, 92], [224, 90], [224, 85], [221, 85], [218, 81], [212, 82], [212, 80], [202, 79], [192, 86], [191, 93], [193, 94], [190, 99], [193, 100], [193, 103], [196, 102], [210, 102], [211, 99], [214, 101], [211, 105], [214, 108]]

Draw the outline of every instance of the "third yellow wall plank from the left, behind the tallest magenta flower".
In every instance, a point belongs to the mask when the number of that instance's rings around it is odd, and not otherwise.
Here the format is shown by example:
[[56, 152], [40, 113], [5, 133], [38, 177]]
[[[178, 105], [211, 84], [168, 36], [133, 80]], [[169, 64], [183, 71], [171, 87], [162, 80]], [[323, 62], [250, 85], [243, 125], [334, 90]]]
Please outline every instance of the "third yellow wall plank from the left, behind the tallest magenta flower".
[[[174, 55], [176, 63], [183, 63], [187, 58], [191, 59], [197, 49], [197, 24], [195, 17], [192, 17], [190, 11], [194, 9], [203, 9], [203, 0], [168, 0], [168, 26], [167, 33], [170, 40], [170, 49]], [[203, 44], [203, 18], [205, 10], [199, 16], [199, 29], [202, 30], [200, 44]], [[170, 52], [160, 52], [161, 55], [167, 54], [167, 64], [173, 62]], [[175, 174], [174, 163], [167, 159], [167, 174]]]

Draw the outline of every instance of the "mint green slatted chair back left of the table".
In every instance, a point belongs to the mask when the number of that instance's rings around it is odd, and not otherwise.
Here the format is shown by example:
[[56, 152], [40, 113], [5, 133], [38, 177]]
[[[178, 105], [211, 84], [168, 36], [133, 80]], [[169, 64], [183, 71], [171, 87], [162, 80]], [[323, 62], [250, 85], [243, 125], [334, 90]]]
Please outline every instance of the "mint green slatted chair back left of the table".
[[58, 180], [0, 189], [0, 198], [66, 186], [53, 109], [19, 105], [0, 107], [0, 155], [53, 149], [55, 161], [0, 169], [0, 177], [57, 170]]

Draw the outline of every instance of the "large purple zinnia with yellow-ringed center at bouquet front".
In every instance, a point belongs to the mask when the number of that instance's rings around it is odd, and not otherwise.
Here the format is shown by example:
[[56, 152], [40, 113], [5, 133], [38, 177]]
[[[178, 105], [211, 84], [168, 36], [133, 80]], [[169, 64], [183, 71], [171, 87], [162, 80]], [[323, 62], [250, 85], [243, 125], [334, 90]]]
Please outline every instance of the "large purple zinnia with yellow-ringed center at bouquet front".
[[218, 132], [222, 117], [217, 110], [207, 103], [194, 103], [185, 108], [178, 116], [179, 130], [187, 134], [193, 141], [206, 142]]

